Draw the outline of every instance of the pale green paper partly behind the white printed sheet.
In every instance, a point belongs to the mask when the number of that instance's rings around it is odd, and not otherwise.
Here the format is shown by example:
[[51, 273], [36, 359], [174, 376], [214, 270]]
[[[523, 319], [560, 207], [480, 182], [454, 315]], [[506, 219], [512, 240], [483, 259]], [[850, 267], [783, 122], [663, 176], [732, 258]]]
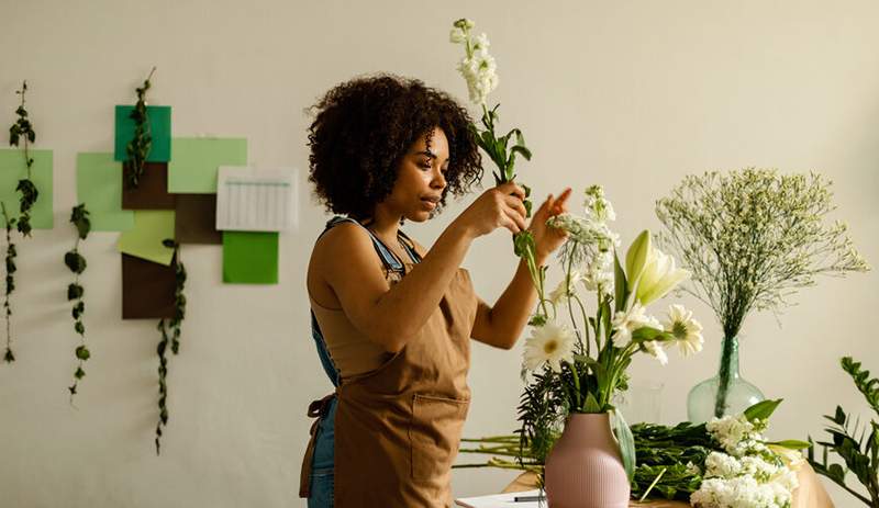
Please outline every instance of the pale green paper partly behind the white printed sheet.
[[247, 139], [175, 137], [168, 192], [215, 194], [220, 166], [247, 165]]

